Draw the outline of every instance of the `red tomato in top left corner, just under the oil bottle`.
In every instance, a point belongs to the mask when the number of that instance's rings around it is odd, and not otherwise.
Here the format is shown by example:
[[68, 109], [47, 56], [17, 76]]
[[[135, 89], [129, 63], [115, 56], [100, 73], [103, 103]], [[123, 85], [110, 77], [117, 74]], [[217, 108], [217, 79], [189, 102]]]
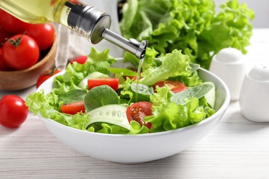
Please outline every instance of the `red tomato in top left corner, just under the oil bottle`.
[[24, 32], [23, 25], [25, 22], [13, 17], [8, 12], [0, 9], [0, 26], [6, 32], [11, 34], [22, 34]]

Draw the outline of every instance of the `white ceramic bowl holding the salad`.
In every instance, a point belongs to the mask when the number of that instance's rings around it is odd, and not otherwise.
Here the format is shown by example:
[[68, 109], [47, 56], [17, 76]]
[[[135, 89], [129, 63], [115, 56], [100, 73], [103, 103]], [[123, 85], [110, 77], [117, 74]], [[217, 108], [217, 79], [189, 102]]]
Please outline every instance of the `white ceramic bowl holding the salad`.
[[[98, 134], [73, 129], [49, 118], [41, 117], [41, 120], [61, 142], [94, 158], [129, 164], [166, 158], [188, 149], [206, 136], [219, 123], [230, 103], [228, 87], [219, 77], [203, 69], [199, 69], [199, 75], [204, 81], [215, 83], [217, 112], [201, 123], [181, 129], [138, 135]], [[52, 78], [43, 83], [38, 90], [44, 89], [45, 93], [50, 92]]]

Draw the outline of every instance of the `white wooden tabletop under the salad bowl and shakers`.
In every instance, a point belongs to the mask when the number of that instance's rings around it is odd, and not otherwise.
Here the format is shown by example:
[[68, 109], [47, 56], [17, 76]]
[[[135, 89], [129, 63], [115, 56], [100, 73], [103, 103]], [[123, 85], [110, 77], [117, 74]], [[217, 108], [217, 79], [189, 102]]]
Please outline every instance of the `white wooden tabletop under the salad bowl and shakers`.
[[[250, 67], [269, 61], [269, 29], [254, 30], [251, 43]], [[12, 94], [25, 98], [34, 90]], [[0, 92], [0, 97], [6, 94], [11, 92]], [[18, 129], [0, 126], [0, 178], [269, 178], [269, 123], [246, 120], [234, 101], [210, 134], [186, 151], [121, 165], [74, 151], [30, 113]]]

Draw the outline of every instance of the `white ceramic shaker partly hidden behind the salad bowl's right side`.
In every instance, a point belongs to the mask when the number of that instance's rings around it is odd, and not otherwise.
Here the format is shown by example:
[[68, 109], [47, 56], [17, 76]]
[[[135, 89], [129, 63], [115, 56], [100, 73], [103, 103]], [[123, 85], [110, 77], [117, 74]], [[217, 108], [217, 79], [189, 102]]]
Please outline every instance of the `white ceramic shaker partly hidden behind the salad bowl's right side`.
[[209, 71], [221, 78], [230, 90], [231, 101], [239, 99], [243, 77], [246, 74], [246, 60], [241, 51], [223, 48], [210, 63]]

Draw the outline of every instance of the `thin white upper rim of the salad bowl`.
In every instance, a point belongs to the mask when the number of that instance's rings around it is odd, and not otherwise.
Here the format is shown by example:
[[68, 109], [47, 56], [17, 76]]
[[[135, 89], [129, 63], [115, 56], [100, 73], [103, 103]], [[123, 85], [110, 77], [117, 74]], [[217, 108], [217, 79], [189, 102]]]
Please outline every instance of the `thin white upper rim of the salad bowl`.
[[[55, 125], [59, 125], [59, 127], [64, 127], [67, 130], [69, 130], [69, 131], [79, 132], [79, 133], [82, 132], [83, 134], [86, 134], [86, 135], [99, 135], [99, 136], [106, 136], [106, 137], [109, 136], [109, 137], [117, 137], [117, 138], [119, 138], [119, 137], [137, 138], [137, 137], [147, 137], [147, 136], [163, 136], [163, 135], [174, 134], [174, 133], [177, 133], [179, 131], [185, 131], [185, 130], [188, 130], [188, 129], [193, 128], [193, 127], [199, 127], [201, 125], [206, 125], [206, 123], [210, 123], [211, 120], [215, 120], [214, 119], [215, 116], [220, 115], [221, 112], [223, 112], [223, 110], [225, 112], [226, 109], [227, 109], [227, 107], [228, 107], [228, 105], [230, 104], [230, 91], [229, 91], [228, 86], [226, 85], [226, 83], [224, 83], [221, 80], [221, 78], [219, 78], [217, 75], [213, 74], [212, 72], [210, 72], [208, 70], [203, 69], [202, 67], [199, 67], [199, 70], [212, 75], [214, 78], [217, 79], [217, 81], [219, 81], [219, 83], [221, 84], [221, 86], [224, 89], [224, 92], [226, 93], [226, 98], [223, 101], [223, 104], [221, 105], [221, 107], [215, 112], [215, 114], [213, 114], [212, 116], [206, 118], [205, 120], [202, 120], [199, 123], [195, 123], [193, 125], [188, 125], [186, 127], [181, 127], [179, 129], [173, 129], [173, 130], [170, 130], [170, 131], [160, 131], [160, 132], [155, 132], [155, 133], [150, 133], [150, 134], [103, 134], [103, 133], [97, 133], [97, 132], [83, 131], [81, 129], [75, 129], [75, 128], [70, 127], [68, 125], [63, 125], [61, 123], [58, 123], [57, 121], [52, 120], [50, 118], [43, 118], [39, 113], [38, 113], [38, 116], [42, 120], [47, 120], [47, 122], [52, 123], [52, 124], [55, 124]], [[54, 76], [51, 76], [50, 78], [48, 78], [47, 81], [45, 81], [44, 83], [42, 83], [39, 86], [39, 88], [37, 88], [37, 92], [39, 92], [41, 89], [43, 89], [45, 85], [48, 85], [47, 83], [51, 83], [51, 81], [53, 81], [53, 78], [55, 76], [62, 75], [65, 72], [66, 71], [59, 72], [58, 74], [55, 74]]]

